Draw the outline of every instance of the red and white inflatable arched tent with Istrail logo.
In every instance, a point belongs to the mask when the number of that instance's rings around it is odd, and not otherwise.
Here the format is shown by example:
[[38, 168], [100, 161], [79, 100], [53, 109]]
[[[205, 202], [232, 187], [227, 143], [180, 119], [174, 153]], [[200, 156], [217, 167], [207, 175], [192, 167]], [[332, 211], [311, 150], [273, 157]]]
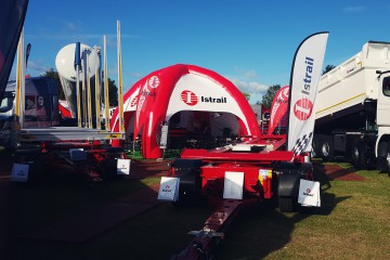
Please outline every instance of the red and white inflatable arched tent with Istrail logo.
[[[206, 120], [212, 136], [222, 136], [226, 128], [237, 136], [261, 134], [243, 93], [219, 74], [194, 65], [177, 64], [139, 80], [123, 96], [123, 112], [127, 135], [142, 136], [144, 158], [161, 157], [157, 136], [164, 123], [185, 129], [190, 118]], [[118, 109], [110, 125], [112, 131], [119, 130]]]

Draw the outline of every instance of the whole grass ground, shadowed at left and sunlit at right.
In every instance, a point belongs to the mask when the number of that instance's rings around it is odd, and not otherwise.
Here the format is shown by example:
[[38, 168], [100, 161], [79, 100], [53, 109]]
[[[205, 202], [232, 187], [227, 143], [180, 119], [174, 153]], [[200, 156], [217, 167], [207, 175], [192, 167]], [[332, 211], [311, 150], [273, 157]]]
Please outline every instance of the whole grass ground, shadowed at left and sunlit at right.
[[[390, 178], [378, 171], [356, 173], [365, 181], [324, 185], [322, 208], [311, 213], [281, 213], [268, 207], [244, 211], [226, 232], [216, 259], [388, 259]], [[88, 188], [77, 180], [52, 179], [32, 187], [11, 185], [12, 259], [170, 259], [192, 239], [186, 232], [204, 225], [210, 206], [160, 204], [82, 244], [21, 237], [158, 182], [146, 178]]]

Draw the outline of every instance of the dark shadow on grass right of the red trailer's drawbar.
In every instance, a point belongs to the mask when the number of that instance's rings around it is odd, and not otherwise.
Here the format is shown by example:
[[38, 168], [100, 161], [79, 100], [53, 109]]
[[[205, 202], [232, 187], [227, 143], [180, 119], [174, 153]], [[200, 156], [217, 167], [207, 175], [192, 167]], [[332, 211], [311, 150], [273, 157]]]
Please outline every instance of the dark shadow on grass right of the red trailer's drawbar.
[[282, 213], [264, 205], [246, 209], [227, 231], [225, 240], [217, 248], [216, 259], [263, 259], [290, 242], [298, 223], [311, 216], [328, 216], [339, 203], [350, 198], [336, 197], [329, 193], [330, 179], [323, 165], [315, 167], [314, 178], [321, 182], [320, 208], [300, 207], [297, 213]]

